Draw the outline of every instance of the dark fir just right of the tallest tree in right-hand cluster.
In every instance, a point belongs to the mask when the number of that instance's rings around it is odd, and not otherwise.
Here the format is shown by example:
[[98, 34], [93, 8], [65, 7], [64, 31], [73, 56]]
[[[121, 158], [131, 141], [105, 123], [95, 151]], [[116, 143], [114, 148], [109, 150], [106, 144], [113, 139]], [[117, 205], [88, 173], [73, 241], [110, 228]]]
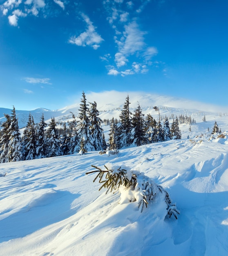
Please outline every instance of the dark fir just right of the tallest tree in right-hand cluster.
[[139, 103], [138, 108], [134, 111], [132, 126], [132, 135], [134, 136], [133, 144], [136, 146], [146, 144], [148, 141], [145, 134], [145, 120]]

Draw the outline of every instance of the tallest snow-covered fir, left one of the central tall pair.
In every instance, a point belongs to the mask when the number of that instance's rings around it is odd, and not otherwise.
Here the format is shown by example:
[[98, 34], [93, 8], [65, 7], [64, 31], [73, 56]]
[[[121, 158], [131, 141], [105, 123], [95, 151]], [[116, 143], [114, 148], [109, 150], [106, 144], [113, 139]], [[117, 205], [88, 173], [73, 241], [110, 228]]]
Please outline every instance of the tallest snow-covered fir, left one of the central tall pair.
[[89, 118], [87, 116], [87, 113], [89, 112], [88, 104], [86, 103], [85, 93], [83, 92], [83, 97], [81, 99], [81, 104], [79, 108], [78, 113], [78, 124], [77, 124], [77, 135], [78, 135], [78, 145], [74, 149], [74, 153], [78, 152], [80, 150], [80, 145], [82, 140], [85, 143], [85, 150], [87, 151], [93, 151], [94, 148], [94, 138], [91, 134], [91, 124], [89, 122]]

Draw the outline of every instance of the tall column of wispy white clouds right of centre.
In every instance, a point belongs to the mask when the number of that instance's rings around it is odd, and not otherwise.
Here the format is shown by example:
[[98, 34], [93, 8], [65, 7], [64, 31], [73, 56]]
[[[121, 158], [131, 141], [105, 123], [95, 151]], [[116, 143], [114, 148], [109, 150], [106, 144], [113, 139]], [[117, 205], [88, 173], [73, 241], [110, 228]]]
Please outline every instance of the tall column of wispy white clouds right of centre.
[[[153, 56], [158, 54], [158, 50], [145, 43], [147, 31], [141, 29], [140, 18], [137, 16], [140, 16], [141, 11], [149, 2], [150, 0], [137, 3], [133, 1], [124, 3], [121, 0], [103, 1], [107, 11], [107, 20], [115, 31], [114, 43], [117, 49], [114, 54], [115, 67], [110, 65], [108, 74], [127, 76], [148, 72], [149, 62]], [[123, 11], [126, 7], [127, 11]], [[108, 61], [111, 64], [111, 60], [108, 59]]]

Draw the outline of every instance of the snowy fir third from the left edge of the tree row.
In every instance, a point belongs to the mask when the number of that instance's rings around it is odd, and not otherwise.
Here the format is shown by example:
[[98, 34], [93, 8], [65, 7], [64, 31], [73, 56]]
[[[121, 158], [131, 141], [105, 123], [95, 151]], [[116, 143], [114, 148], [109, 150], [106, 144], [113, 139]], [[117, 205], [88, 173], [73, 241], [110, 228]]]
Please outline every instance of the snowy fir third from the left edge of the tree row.
[[27, 126], [23, 132], [22, 155], [24, 160], [34, 159], [36, 156], [36, 131], [31, 113], [29, 113]]

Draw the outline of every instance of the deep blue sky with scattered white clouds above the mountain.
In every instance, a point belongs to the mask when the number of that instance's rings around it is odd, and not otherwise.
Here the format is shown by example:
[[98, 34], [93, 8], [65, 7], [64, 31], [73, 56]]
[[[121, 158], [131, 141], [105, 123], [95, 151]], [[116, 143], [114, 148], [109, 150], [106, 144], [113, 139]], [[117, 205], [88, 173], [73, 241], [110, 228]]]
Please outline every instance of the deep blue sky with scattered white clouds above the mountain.
[[84, 90], [228, 106], [227, 0], [0, 0], [0, 107], [58, 109]]

